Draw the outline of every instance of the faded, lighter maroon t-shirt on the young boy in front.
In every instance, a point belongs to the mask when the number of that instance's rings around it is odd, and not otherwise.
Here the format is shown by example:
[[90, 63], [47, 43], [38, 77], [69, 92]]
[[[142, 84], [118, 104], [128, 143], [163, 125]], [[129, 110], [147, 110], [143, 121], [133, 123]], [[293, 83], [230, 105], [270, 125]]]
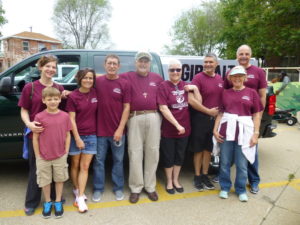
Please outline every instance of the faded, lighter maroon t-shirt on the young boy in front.
[[39, 136], [41, 158], [53, 160], [66, 154], [66, 135], [72, 129], [69, 114], [61, 110], [55, 114], [44, 110], [36, 114], [34, 120], [44, 127], [44, 131]]

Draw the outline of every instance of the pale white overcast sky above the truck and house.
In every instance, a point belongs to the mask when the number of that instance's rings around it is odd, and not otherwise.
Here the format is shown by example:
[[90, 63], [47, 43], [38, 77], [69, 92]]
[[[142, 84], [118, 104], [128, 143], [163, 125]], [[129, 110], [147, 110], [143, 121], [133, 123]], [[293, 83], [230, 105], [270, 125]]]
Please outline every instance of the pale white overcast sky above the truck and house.
[[[8, 23], [3, 36], [23, 31], [58, 38], [51, 20], [56, 0], [2, 0]], [[108, 23], [113, 49], [149, 50], [163, 53], [171, 44], [174, 21], [201, 0], [110, 0], [112, 12]], [[59, 38], [58, 38], [59, 39]]]

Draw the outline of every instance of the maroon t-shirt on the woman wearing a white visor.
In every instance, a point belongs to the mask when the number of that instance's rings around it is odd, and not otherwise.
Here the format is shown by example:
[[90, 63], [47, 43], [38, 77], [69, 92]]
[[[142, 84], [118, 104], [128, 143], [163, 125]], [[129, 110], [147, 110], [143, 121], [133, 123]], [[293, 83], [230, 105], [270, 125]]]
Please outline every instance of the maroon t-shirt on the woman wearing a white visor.
[[[237, 114], [239, 116], [252, 116], [252, 114], [263, 110], [260, 98], [257, 92], [245, 87], [241, 91], [235, 91], [232, 88], [225, 89], [222, 95], [221, 112]], [[223, 123], [220, 128], [220, 134], [226, 137], [227, 123]], [[238, 129], [237, 129], [238, 131]], [[237, 132], [236, 132], [237, 136]]]

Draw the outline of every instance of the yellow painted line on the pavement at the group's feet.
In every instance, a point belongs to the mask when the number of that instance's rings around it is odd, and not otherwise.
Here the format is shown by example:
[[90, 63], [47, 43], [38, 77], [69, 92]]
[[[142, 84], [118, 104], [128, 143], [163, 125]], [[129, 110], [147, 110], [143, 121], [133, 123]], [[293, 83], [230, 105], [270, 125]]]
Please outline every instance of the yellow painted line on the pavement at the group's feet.
[[[261, 189], [264, 188], [274, 188], [274, 187], [282, 187], [282, 186], [291, 186], [296, 190], [300, 191], [300, 179], [294, 179], [292, 181], [279, 181], [279, 182], [272, 182], [272, 183], [264, 183], [260, 184], [259, 187]], [[203, 191], [203, 192], [191, 192], [191, 193], [182, 193], [182, 194], [175, 194], [169, 195], [164, 190], [164, 187], [157, 183], [157, 192], [159, 195], [159, 200], [157, 202], [165, 202], [171, 200], [178, 200], [178, 199], [187, 199], [187, 198], [195, 198], [195, 197], [202, 197], [202, 196], [209, 196], [209, 195], [217, 195], [219, 190], [211, 190], [211, 191]], [[131, 204], [127, 199], [122, 201], [111, 201], [111, 202], [101, 202], [101, 203], [89, 203], [88, 207], [89, 210], [91, 209], [102, 209], [102, 208], [111, 208], [111, 207], [119, 207], [119, 206], [131, 206], [137, 204], [146, 204], [146, 203], [155, 203], [150, 201], [148, 198], [141, 198], [138, 203]], [[77, 211], [73, 205], [64, 206], [65, 212], [74, 212]], [[35, 215], [41, 214], [42, 208], [38, 208], [35, 211]], [[8, 217], [18, 217], [18, 216], [26, 216], [23, 210], [11, 210], [11, 211], [0, 211], [0, 218], [8, 218]]]

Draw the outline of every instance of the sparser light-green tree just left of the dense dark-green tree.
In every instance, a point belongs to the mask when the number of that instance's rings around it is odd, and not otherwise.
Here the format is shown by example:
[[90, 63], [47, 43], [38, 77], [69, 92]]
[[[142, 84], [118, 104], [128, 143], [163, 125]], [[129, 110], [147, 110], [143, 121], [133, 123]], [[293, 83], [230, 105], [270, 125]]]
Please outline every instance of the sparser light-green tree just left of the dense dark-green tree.
[[223, 29], [218, 1], [203, 2], [199, 7], [182, 13], [172, 26], [172, 45], [165, 46], [168, 54], [204, 55], [217, 51], [219, 31]]

